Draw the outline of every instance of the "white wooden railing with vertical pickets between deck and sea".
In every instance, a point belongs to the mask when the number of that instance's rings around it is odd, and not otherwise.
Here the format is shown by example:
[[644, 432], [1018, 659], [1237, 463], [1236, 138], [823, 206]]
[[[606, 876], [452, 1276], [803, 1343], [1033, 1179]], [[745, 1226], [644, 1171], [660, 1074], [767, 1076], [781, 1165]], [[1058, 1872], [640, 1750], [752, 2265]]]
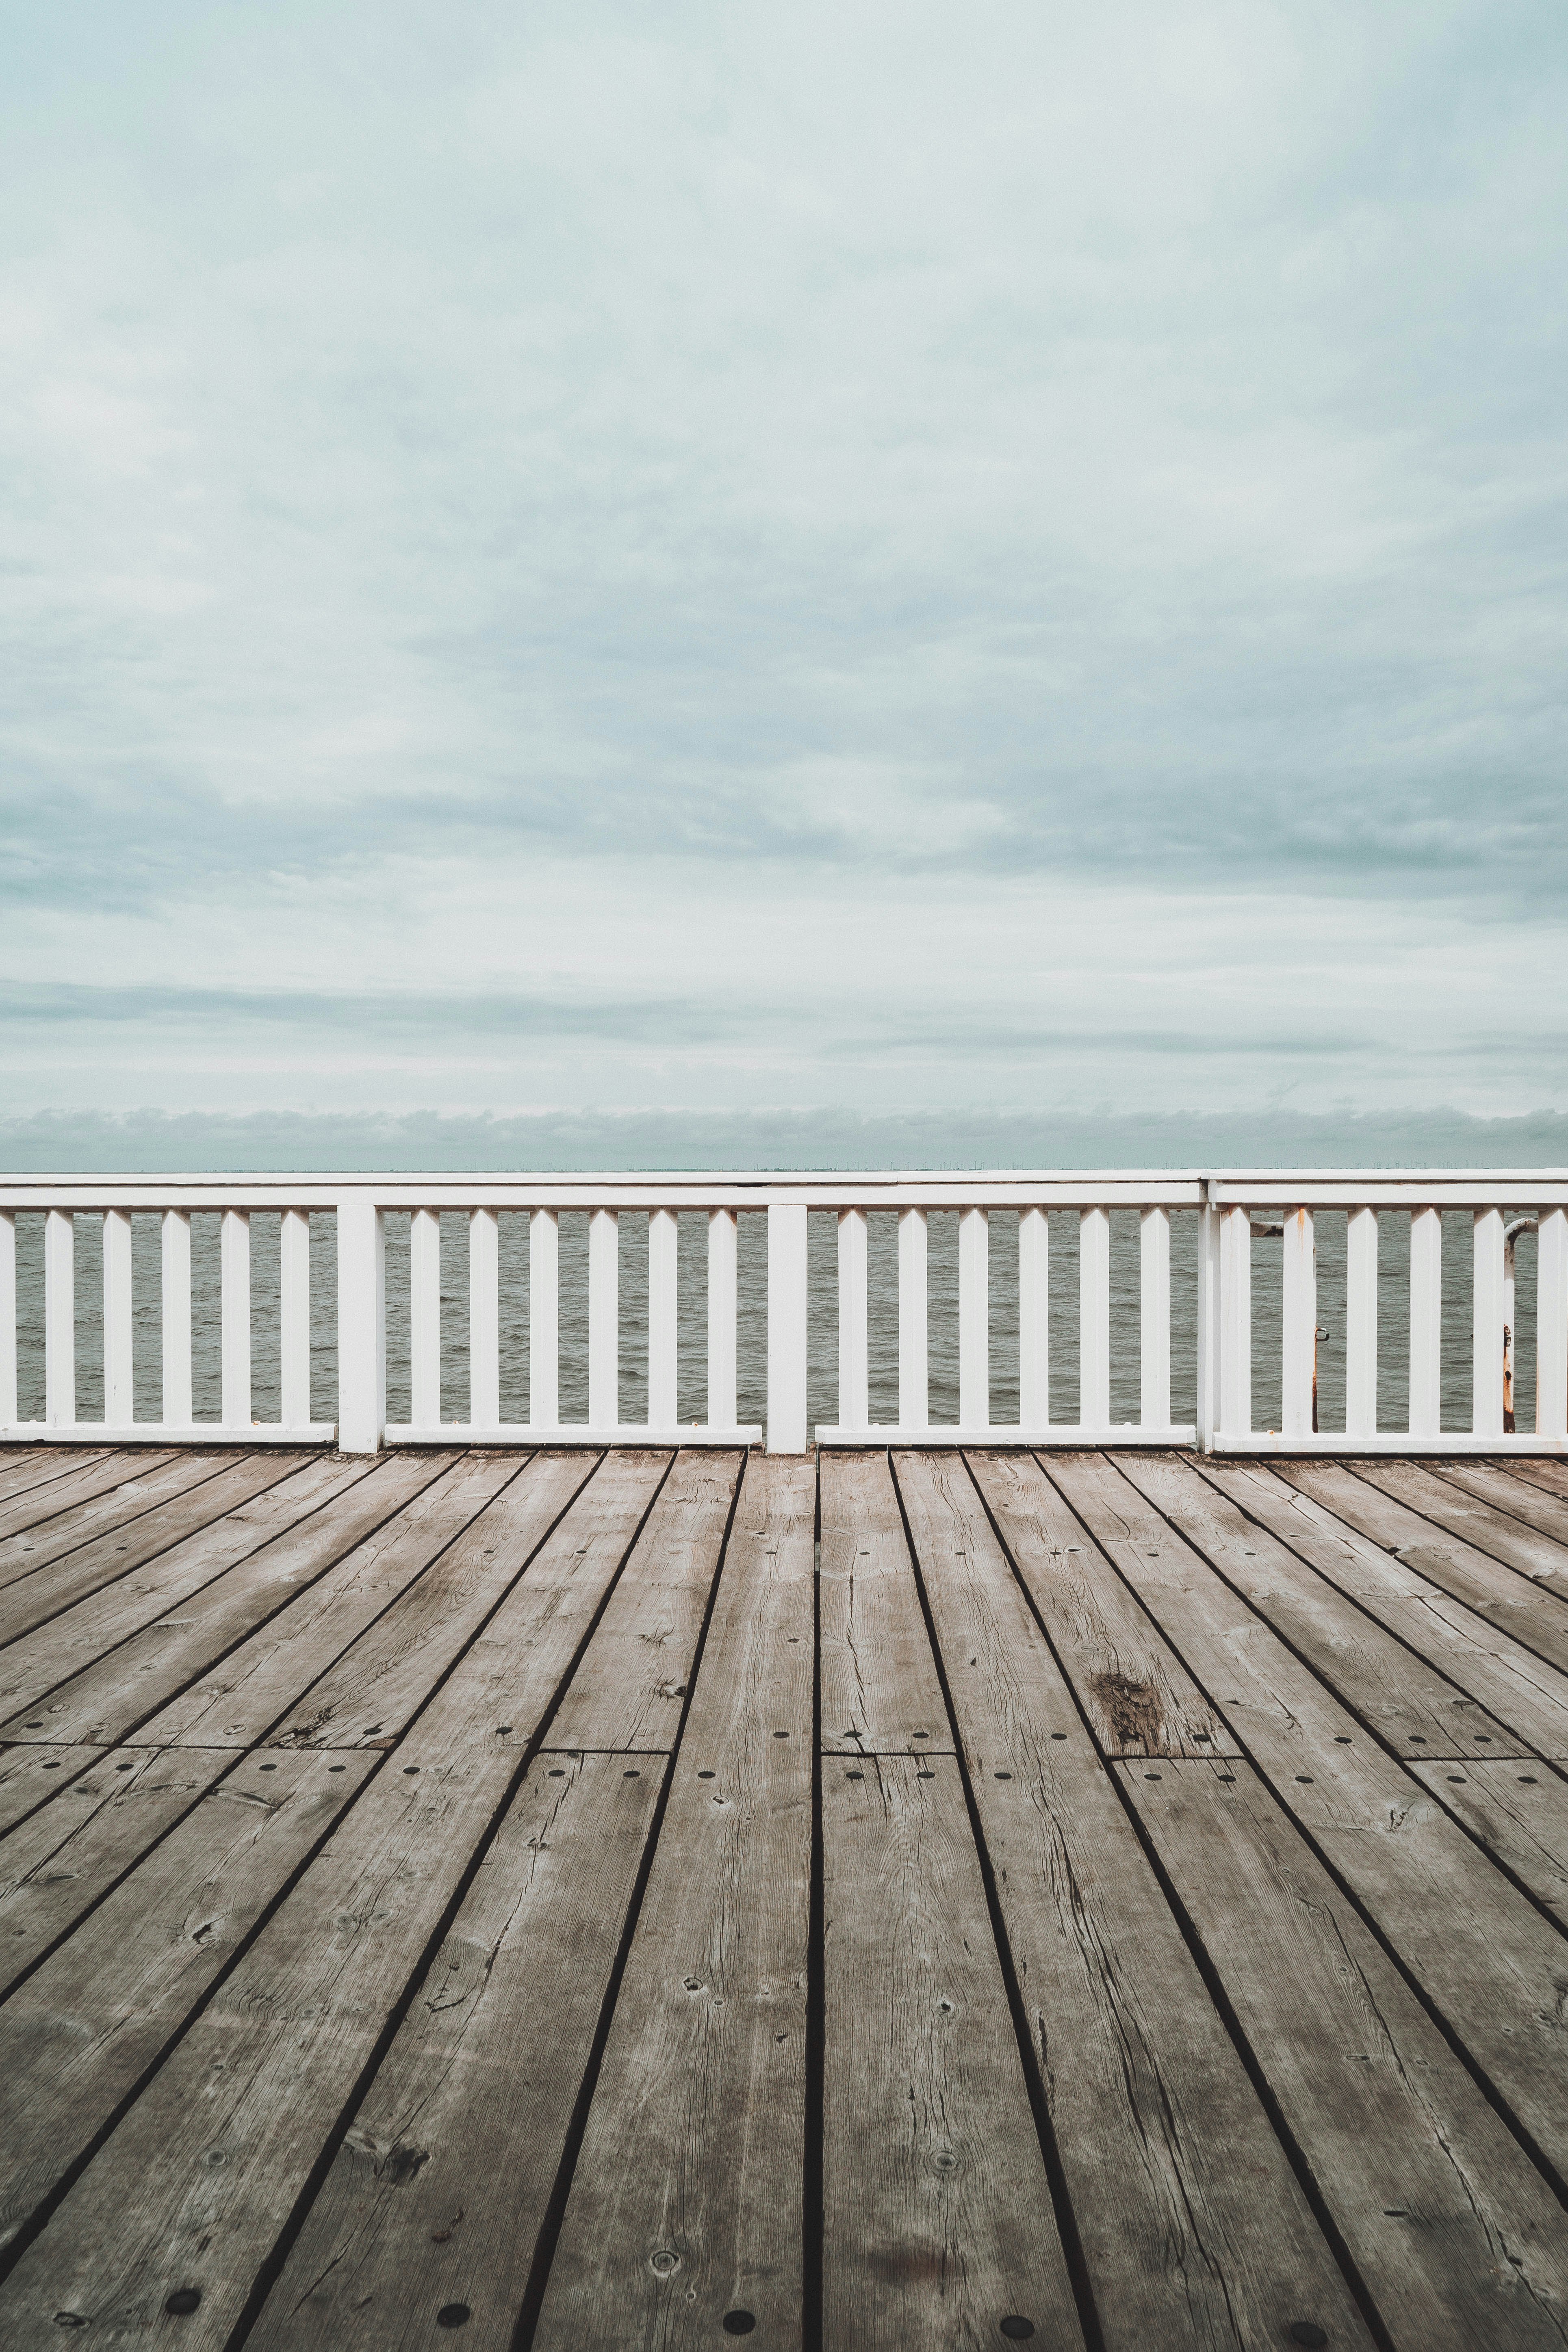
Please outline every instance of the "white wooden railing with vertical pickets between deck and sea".
[[[867, 1409], [867, 1211], [898, 1214], [898, 1421]], [[926, 1218], [959, 1214], [959, 1414], [929, 1418]], [[1112, 1425], [1110, 1216], [1140, 1218], [1135, 1423]], [[1314, 1430], [1314, 1211], [1347, 1211], [1347, 1409]], [[16, 1216], [45, 1216], [45, 1421], [16, 1418]], [[221, 1216], [221, 1416], [190, 1411], [190, 1216]], [[336, 1218], [336, 1423], [310, 1421], [310, 1211]], [[529, 1421], [501, 1421], [498, 1218], [529, 1218]], [[559, 1216], [588, 1214], [588, 1418], [559, 1418]], [[806, 1218], [839, 1235], [837, 1423], [809, 1430]], [[1077, 1211], [1079, 1418], [1051, 1421], [1048, 1214]], [[1441, 1430], [1441, 1211], [1474, 1221], [1474, 1411]], [[162, 1414], [134, 1418], [132, 1216], [162, 1221]], [[407, 1214], [411, 1418], [386, 1418], [386, 1218]], [[677, 1421], [677, 1218], [708, 1218], [708, 1418]], [[1380, 1214], [1410, 1221], [1410, 1416], [1378, 1428]], [[78, 1421], [75, 1218], [103, 1225], [103, 1421]], [[280, 1218], [280, 1421], [252, 1418], [252, 1218]], [[442, 1421], [440, 1221], [468, 1223], [468, 1418]], [[646, 1421], [618, 1418], [621, 1218], [646, 1218]], [[738, 1218], [766, 1218], [766, 1444], [1201, 1446], [1241, 1454], [1556, 1454], [1568, 1449], [1568, 1176], [1516, 1174], [952, 1174], [952, 1176], [16, 1176], [0, 1181], [0, 1442], [755, 1444], [736, 1418]], [[1018, 1221], [1018, 1421], [997, 1423], [990, 1228]], [[1197, 1421], [1171, 1421], [1171, 1218], [1197, 1218]], [[1512, 1244], [1537, 1228], [1535, 1432], [1505, 1430]], [[1253, 1430], [1253, 1235], [1284, 1240], [1284, 1414]]]

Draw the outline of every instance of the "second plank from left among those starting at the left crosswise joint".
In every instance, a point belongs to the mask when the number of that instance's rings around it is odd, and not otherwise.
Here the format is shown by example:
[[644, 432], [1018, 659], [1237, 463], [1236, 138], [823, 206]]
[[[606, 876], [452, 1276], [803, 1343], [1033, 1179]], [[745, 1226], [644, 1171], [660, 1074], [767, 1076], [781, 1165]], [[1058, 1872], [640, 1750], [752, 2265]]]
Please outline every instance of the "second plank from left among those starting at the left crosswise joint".
[[110, 1750], [12, 1830], [0, 1844], [0, 2002], [230, 1764], [214, 1750]]

